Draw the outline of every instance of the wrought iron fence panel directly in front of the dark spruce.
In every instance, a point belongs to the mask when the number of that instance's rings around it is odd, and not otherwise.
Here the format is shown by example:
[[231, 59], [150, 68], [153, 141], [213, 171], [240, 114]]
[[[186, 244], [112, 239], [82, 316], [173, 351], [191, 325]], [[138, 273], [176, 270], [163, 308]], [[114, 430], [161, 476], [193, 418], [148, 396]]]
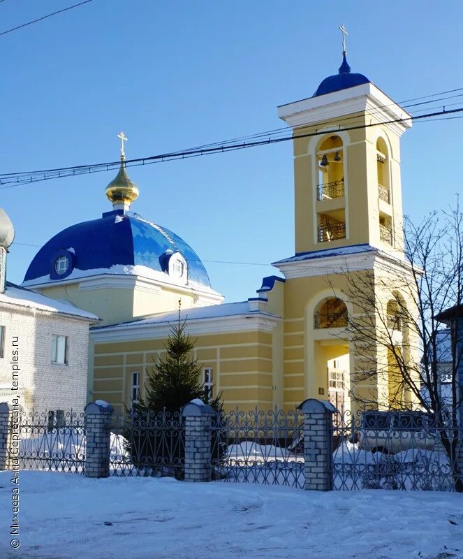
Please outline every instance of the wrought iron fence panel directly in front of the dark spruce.
[[110, 475], [183, 479], [185, 426], [181, 412], [115, 414], [110, 438]]

